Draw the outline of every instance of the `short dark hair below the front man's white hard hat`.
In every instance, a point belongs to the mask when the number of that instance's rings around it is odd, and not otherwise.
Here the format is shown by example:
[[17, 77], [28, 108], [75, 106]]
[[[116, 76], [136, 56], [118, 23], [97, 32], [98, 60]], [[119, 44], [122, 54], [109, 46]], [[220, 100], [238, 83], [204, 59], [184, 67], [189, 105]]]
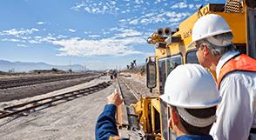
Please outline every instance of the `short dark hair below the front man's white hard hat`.
[[[178, 114], [179, 122], [182, 124], [182, 126], [185, 128], [186, 132], [189, 135], [209, 135], [209, 132], [212, 128], [212, 124], [205, 126], [205, 127], [196, 127], [192, 126], [189, 123], [186, 123], [185, 120], [179, 116], [179, 111], [177, 110], [176, 106], [172, 106], [171, 108], [176, 111]], [[217, 110], [216, 106], [213, 106], [211, 108], [206, 109], [185, 109], [187, 112], [189, 112], [193, 117], [199, 117], [199, 118], [206, 118], [206, 117], [212, 117]]]

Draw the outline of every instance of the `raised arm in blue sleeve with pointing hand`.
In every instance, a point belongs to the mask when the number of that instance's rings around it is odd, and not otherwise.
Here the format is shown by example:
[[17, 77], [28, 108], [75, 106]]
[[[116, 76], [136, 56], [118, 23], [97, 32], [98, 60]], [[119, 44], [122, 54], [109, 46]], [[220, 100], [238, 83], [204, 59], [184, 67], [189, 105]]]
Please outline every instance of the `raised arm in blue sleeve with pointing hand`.
[[107, 104], [104, 106], [104, 111], [98, 117], [95, 128], [96, 140], [116, 140], [127, 138], [118, 137], [118, 129], [116, 125], [115, 114], [117, 106], [123, 103], [124, 99], [120, 99], [118, 90], [115, 90], [109, 97], [107, 97]]

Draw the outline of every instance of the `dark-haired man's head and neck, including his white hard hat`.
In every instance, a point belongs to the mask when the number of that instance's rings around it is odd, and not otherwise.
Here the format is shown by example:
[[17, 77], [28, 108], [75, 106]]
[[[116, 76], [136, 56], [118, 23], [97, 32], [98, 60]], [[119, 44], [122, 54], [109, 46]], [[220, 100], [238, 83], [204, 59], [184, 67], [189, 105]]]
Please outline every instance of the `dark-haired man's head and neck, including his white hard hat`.
[[169, 108], [168, 125], [177, 140], [213, 139], [209, 131], [221, 97], [210, 71], [199, 64], [179, 65], [166, 78], [165, 94], [160, 98]]

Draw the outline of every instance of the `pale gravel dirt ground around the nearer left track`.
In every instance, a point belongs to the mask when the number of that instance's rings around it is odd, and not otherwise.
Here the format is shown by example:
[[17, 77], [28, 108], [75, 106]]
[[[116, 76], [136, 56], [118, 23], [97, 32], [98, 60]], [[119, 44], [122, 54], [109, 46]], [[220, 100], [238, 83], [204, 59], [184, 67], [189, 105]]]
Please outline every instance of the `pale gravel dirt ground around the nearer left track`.
[[[63, 90], [57, 90], [45, 95], [13, 100], [0, 103], [3, 107], [36, 98], [43, 98], [90, 87], [97, 83], [108, 82], [110, 77], [99, 77], [90, 83], [83, 83]], [[144, 81], [136, 79], [139, 84]], [[93, 140], [95, 139], [95, 124], [98, 116], [104, 110], [106, 97], [118, 88], [116, 83], [104, 90], [77, 97], [70, 101], [45, 106], [43, 109], [29, 113], [27, 117], [16, 117], [0, 120], [0, 139], [4, 140]]]

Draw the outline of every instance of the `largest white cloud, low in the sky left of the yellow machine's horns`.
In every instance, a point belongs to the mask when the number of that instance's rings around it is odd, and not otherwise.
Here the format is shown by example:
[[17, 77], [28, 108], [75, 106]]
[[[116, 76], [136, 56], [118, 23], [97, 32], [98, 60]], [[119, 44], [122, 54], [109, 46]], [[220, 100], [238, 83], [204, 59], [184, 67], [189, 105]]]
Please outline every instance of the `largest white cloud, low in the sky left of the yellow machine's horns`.
[[[111, 31], [117, 31], [114, 37], [100, 40], [86, 40], [78, 37], [71, 39], [62, 39], [53, 41], [53, 44], [61, 45], [58, 50], [61, 51], [57, 56], [126, 56], [130, 54], [142, 54], [134, 50], [133, 45], [144, 44], [145, 37], [137, 30], [112, 28]], [[90, 37], [99, 37], [91, 35]]]

